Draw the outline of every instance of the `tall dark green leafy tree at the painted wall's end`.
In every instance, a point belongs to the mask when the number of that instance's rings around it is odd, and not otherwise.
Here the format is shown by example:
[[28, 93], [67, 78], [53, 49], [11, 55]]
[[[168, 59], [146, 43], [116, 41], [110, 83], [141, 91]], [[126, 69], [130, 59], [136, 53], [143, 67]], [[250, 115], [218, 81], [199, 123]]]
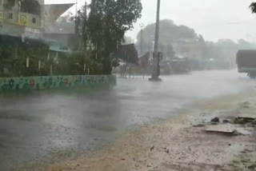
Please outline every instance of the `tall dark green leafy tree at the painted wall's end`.
[[87, 6], [79, 13], [82, 18], [82, 39], [86, 50], [90, 52], [94, 66], [102, 66], [102, 74], [111, 74], [112, 55], [127, 30], [141, 17], [140, 0], [92, 0], [87, 15]]

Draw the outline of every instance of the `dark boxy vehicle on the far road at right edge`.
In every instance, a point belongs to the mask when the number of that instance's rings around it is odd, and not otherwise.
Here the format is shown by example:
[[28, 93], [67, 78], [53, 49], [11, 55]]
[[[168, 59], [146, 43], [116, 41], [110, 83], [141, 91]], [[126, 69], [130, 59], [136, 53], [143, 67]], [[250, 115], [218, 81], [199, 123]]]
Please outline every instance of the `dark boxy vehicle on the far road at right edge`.
[[256, 50], [238, 50], [238, 73], [246, 73], [250, 78], [256, 78]]

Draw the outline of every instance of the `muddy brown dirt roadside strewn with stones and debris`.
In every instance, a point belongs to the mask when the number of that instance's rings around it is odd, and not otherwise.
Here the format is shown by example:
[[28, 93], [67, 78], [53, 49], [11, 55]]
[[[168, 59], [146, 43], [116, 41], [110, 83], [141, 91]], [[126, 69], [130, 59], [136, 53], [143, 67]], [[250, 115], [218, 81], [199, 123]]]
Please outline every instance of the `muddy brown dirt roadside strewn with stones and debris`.
[[[94, 157], [62, 161], [49, 171], [256, 170], [254, 124], [234, 124], [242, 114], [256, 117], [256, 89], [198, 101], [171, 121], [124, 133], [110, 149]], [[249, 134], [230, 136], [205, 131], [211, 119]], [[231, 123], [222, 123], [222, 121]], [[215, 125], [218, 127], [218, 125]], [[39, 170], [39, 169], [38, 169]]]

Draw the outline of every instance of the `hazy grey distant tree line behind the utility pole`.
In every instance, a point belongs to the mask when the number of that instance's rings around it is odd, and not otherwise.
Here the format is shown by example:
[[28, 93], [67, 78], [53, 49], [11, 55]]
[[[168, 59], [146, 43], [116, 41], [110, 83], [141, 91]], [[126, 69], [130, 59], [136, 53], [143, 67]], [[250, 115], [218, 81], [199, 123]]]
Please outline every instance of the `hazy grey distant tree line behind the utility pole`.
[[[146, 26], [138, 33], [136, 43], [139, 54], [153, 50], [154, 26]], [[211, 61], [216, 69], [228, 69], [235, 66], [235, 57], [239, 49], [254, 49], [256, 45], [240, 39], [234, 42], [221, 39], [218, 42], [206, 41], [201, 34], [197, 34], [188, 26], [177, 26], [171, 20], [160, 22], [159, 51], [164, 60], [172, 58], [189, 58], [194, 61]]]

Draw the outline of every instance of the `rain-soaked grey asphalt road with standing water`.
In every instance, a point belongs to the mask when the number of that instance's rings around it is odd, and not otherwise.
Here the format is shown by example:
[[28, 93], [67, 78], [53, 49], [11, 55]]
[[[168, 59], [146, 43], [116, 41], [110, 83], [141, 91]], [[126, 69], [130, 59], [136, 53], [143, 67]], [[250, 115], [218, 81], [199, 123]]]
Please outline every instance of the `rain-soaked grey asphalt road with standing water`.
[[0, 165], [59, 153], [91, 154], [126, 129], [162, 121], [186, 104], [239, 93], [255, 83], [235, 70], [162, 80], [118, 79], [118, 85], [108, 90], [0, 96]]

